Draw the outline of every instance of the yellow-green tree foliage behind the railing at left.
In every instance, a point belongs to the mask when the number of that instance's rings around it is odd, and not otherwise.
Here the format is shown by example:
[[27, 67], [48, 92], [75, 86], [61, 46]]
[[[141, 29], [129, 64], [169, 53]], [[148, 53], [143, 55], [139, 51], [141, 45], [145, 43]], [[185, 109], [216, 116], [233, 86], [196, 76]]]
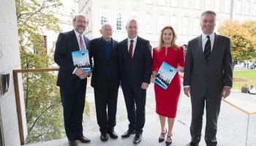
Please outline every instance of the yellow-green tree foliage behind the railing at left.
[[[61, 32], [59, 19], [53, 13], [62, 6], [60, 0], [15, 0], [22, 69], [50, 68], [53, 48], [49, 54], [42, 48], [43, 31]], [[54, 45], [53, 45], [54, 46]], [[37, 50], [39, 55], [34, 54]], [[23, 90], [28, 136], [26, 144], [61, 139], [64, 123], [56, 75], [50, 72], [24, 73]]]

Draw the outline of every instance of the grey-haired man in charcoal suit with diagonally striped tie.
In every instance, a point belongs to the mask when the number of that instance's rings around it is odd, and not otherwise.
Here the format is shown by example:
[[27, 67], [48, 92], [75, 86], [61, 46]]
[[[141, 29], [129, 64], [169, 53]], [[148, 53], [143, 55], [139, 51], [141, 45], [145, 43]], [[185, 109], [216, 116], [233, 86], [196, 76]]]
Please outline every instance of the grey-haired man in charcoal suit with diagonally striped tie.
[[217, 119], [222, 97], [230, 95], [233, 82], [230, 39], [214, 33], [216, 13], [203, 12], [203, 34], [188, 43], [184, 71], [184, 93], [191, 96], [191, 142], [200, 142], [206, 104], [206, 145], [217, 145]]

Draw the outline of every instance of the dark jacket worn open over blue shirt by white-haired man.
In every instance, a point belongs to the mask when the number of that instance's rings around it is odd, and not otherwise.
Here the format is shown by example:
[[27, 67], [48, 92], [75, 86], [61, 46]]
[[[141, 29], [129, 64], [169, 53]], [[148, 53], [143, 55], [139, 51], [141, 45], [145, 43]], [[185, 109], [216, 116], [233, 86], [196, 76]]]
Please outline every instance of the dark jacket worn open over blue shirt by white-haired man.
[[116, 40], [112, 39], [112, 51], [110, 59], [105, 54], [102, 37], [91, 40], [91, 55], [94, 58], [94, 67], [92, 69], [91, 87], [102, 89], [105, 85], [107, 69], [110, 71], [111, 87], [119, 88], [120, 77], [118, 69], [118, 49]]

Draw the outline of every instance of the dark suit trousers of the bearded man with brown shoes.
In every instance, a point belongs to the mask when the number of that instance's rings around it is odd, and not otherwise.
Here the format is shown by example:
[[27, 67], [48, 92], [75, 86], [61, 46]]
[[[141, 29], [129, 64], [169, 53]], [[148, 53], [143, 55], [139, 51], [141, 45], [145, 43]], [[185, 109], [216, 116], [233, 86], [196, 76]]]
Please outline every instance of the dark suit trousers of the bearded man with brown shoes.
[[86, 99], [86, 85], [80, 88], [61, 88], [61, 102], [64, 112], [64, 126], [69, 141], [83, 136], [83, 110]]

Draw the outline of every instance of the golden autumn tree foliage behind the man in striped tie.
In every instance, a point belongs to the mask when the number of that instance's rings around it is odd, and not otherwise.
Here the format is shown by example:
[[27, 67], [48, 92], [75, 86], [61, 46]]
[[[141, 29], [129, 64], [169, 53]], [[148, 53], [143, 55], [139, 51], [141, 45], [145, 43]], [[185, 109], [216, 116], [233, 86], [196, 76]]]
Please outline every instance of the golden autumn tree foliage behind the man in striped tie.
[[[233, 62], [246, 61], [255, 58], [256, 55], [256, 21], [225, 20], [219, 26], [219, 34], [231, 39]], [[233, 64], [234, 69], [235, 64]]]

